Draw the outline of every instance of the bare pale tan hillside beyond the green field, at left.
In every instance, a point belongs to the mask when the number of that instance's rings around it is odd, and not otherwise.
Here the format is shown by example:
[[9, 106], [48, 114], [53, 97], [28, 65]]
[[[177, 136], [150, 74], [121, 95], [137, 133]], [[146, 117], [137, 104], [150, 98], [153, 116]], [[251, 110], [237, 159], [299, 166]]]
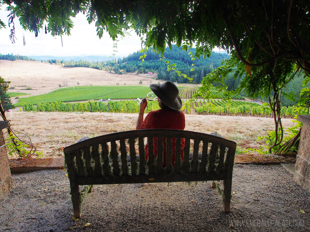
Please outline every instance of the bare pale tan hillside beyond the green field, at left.
[[[11, 81], [9, 92], [25, 92], [31, 95], [39, 95], [58, 89], [59, 84], [64, 86], [80, 85], [139, 85], [142, 80], [144, 85], [150, 82], [158, 83], [156, 75], [124, 73], [122, 75], [84, 67], [61, 67], [39, 61], [25, 60], [1, 60], [0, 75], [7, 81]], [[162, 81], [160, 81], [162, 83]], [[26, 86], [26, 87], [25, 87]], [[31, 87], [32, 90], [25, 90]]]

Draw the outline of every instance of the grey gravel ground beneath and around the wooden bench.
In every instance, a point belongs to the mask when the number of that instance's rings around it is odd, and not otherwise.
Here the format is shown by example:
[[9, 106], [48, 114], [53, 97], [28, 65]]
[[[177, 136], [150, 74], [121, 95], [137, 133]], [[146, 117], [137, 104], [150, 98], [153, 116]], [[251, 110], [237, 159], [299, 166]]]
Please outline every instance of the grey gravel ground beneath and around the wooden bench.
[[310, 231], [310, 194], [281, 165], [235, 165], [231, 213], [209, 182], [102, 185], [87, 195], [79, 221], [65, 174], [12, 175], [0, 231]]

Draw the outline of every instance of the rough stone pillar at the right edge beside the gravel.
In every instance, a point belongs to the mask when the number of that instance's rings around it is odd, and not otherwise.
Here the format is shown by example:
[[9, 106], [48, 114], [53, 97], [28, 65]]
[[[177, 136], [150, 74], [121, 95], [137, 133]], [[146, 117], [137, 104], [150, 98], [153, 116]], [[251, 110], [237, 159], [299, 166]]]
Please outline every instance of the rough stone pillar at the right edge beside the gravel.
[[294, 180], [310, 192], [310, 115], [298, 115], [297, 120], [303, 123], [303, 127], [296, 157]]

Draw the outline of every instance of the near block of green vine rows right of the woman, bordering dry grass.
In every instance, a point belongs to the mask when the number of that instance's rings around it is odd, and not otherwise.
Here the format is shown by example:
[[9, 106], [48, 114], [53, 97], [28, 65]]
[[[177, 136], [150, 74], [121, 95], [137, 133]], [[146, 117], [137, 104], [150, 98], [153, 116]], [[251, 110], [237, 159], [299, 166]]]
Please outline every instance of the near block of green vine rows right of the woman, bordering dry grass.
[[[272, 111], [268, 106], [259, 105], [246, 101], [224, 101], [214, 100], [207, 102], [197, 100], [194, 105], [197, 114], [215, 114], [230, 116], [254, 116], [254, 117], [272, 117]], [[296, 106], [281, 107], [282, 118], [293, 118], [296, 114]]]

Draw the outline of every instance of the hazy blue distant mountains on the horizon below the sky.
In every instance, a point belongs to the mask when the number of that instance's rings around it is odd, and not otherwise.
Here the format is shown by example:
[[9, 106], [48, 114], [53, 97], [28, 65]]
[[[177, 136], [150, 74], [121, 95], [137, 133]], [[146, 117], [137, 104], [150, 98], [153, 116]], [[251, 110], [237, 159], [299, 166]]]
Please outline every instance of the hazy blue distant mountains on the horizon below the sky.
[[36, 60], [64, 60], [64, 61], [89, 61], [89, 62], [102, 62], [120, 58], [119, 56], [110, 57], [110, 56], [28, 56]]

